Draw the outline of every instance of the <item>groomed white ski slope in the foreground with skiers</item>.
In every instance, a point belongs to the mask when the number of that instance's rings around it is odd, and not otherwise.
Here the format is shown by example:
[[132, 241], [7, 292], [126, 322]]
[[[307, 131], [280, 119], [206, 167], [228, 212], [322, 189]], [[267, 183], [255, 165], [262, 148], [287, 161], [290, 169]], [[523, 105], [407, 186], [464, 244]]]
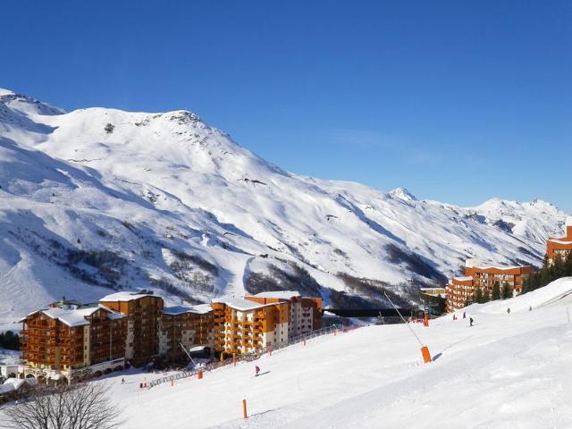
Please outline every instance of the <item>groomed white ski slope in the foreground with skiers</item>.
[[[529, 306], [533, 307], [529, 311]], [[507, 307], [511, 313], [507, 314]], [[329, 335], [174, 386], [111, 379], [123, 429], [572, 427], [572, 278], [525, 296], [404, 324]], [[572, 312], [572, 308], [570, 309]], [[468, 316], [475, 326], [468, 326]], [[152, 376], [147, 375], [147, 380]], [[243, 398], [248, 420], [242, 419]]]

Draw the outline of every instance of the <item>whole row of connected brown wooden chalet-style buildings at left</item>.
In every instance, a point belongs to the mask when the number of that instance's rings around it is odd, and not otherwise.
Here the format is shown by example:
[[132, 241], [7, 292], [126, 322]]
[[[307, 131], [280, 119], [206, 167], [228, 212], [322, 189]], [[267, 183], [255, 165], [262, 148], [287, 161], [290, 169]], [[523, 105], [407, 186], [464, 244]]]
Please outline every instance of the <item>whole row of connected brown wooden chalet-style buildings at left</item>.
[[263, 292], [246, 299], [164, 307], [148, 290], [82, 305], [62, 300], [21, 319], [18, 373], [68, 381], [154, 360], [187, 362], [189, 350], [250, 353], [320, 327], [322, 299]]

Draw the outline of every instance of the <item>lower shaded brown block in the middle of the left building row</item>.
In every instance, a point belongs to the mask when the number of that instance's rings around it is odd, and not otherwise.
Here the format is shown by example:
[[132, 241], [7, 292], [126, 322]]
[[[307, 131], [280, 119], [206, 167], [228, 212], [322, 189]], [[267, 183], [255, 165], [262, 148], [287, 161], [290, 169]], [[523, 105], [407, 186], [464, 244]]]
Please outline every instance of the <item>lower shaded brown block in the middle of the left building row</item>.
[[169, 362], [187, 362], [185, 350], [214, 351], [214, 314], [210, 304], [164, 307], [159, 328], [159, 355]]

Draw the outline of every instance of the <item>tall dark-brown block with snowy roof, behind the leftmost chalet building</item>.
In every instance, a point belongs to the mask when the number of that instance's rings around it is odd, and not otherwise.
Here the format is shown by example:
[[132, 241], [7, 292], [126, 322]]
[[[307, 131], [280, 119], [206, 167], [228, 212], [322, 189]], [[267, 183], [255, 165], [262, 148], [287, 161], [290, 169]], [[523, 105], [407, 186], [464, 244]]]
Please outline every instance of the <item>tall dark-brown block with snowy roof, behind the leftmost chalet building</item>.
[[112, 293], [99, 300], [127, 316], [125, 358], [139, 365], [159, 357], [159, 329], [164, 300], [149, 290]]

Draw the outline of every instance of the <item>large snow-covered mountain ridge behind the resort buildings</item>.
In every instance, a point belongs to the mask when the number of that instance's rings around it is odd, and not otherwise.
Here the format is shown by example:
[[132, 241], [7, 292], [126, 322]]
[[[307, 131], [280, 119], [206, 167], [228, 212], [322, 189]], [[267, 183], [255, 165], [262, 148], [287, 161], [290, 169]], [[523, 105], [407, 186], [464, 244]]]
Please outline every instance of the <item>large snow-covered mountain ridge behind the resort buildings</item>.
[[466, 208], [299, 176], [186, 111], [64, 113], [0, 89], [0, 322], [110, 288], [296, 287], [346, 306], [443, 282], [467, 257], [538, 265], [565, 217], [540, 200]]

